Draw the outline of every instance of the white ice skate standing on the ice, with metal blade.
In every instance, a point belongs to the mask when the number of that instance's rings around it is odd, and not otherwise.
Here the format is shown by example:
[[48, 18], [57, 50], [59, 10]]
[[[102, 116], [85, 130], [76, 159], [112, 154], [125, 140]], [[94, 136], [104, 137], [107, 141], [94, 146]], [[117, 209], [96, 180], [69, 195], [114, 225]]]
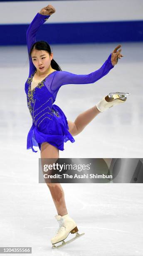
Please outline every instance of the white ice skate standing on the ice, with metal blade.
[[[61, 215], [55, 215], [55, 218], [59, 222], [59, 229], [57, 230], [56, 235], [51, 239], [52, 248], [60, 248], [67, 243], [70, 243], [74, 241], [76, 238], [79, 238], [80, 236], [83, 236], [85, 233], [79, 234], [78, 228], [76, 226], [76, 223], [72, 218], [69, 217], [68, 214], [61, 216]], [[76, 234], [76, 236], [69, 241], [64, 241], [64, 239], [69, 236], [69, 233]], [[56, 243], [62, 242], [59, 246], [55, 246]]]

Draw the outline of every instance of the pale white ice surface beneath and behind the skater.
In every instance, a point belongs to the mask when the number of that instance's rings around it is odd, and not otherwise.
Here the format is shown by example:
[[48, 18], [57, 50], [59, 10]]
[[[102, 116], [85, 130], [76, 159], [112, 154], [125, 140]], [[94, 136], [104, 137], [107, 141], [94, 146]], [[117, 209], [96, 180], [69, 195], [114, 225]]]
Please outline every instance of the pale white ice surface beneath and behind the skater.
[[[50, 46], [63, 71], [89, 74], [118, 44]], [[109, 92], [131, 93], [125, 103], [97, 115], [74, 143], [64, 143], [60, 158], [143, 157], [143, 42], [123, 42], [121, 49], [124, 57], [97, 82], [60, 88], [54, 104], [73, 122]], [[51, 248], [57, 211], [46, 184], [38, 183], [39, 148], [37, 153], [26, 148], [32, 126], [25, 94], [27, 47], [1, 46], [0, 56], [0, 246], [29, 246], [34, 256], [143, 255], [142, 184], [62, 184], [68, 213], [85, 235]]]

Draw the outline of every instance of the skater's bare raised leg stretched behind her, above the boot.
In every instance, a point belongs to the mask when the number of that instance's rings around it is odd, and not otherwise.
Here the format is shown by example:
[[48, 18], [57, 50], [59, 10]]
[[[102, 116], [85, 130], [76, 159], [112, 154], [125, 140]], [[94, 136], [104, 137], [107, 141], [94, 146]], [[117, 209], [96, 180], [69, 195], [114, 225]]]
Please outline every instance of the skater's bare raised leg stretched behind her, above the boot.
[[101, 112], [94, 106], [78, 115], [74, 122], [68, 120], [69, 132], [73, 136], [79, 134], [99, 113]]

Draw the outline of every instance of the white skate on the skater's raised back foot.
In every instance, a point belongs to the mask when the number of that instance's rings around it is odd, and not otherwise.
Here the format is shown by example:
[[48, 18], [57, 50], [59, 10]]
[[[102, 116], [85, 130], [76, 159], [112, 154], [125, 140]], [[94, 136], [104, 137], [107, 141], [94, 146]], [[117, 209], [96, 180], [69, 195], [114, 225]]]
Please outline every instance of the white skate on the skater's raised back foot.
[[100, 112], [104, 112], [108, 108], [111, 108], [119, 103], [123, 103], [127, 99], [127, 95], [130, 95], [128, 92], [110, 92], [106, 97], [100, 100], [96, 104], [96, 108]]

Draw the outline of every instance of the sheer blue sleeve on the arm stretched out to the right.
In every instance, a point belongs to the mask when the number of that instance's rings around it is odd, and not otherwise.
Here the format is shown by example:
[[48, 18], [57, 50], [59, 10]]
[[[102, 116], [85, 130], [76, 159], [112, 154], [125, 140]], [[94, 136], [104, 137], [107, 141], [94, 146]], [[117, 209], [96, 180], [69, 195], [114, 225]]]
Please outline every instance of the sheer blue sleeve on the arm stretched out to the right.
[[67, 71], [55, 72], [50, 91], [54, 93], [64, 84], [92, 84], [96, 82], [113, 69], [114, 66], [111, 63], [111, 55], [112, 54], [108, 56], [108, 59], [100, 69], [91, 72], [90, 74], [73, 74]]

